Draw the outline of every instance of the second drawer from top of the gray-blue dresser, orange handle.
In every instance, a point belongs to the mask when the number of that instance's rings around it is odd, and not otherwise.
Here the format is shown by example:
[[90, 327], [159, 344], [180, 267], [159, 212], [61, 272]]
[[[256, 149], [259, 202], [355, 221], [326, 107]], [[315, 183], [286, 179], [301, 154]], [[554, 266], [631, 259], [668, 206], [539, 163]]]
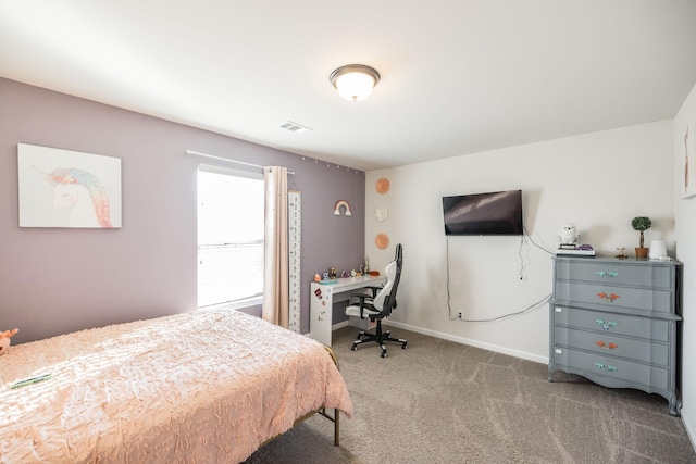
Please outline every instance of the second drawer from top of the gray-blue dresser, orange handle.
[[669, 290], [614, 287], [610, 285], [559, 280], [556, 281], [554, 287], [554, 298], [556, 300], [576, 303], [671, 313], [673, 294]]

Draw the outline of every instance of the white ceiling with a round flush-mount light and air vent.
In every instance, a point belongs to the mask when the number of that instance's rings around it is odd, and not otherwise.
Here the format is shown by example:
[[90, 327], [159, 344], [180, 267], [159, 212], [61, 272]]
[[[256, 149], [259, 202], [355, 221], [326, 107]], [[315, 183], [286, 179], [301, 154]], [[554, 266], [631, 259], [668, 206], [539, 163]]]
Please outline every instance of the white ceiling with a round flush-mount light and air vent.
[[696, 1], [4, 1], [0, 76], [373, 170], [673, 117]]

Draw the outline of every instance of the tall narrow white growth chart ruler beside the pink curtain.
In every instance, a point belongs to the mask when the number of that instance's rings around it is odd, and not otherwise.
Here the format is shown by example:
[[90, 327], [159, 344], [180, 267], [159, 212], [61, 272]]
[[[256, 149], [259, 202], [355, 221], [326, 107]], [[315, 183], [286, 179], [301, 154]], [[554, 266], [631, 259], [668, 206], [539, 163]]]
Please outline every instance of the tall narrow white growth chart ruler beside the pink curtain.
[[287, 192], [288, 290], [290, 292], [288, 328], [300, 333], [300, 252], [302, 248], [302, 197], [297, 190]]

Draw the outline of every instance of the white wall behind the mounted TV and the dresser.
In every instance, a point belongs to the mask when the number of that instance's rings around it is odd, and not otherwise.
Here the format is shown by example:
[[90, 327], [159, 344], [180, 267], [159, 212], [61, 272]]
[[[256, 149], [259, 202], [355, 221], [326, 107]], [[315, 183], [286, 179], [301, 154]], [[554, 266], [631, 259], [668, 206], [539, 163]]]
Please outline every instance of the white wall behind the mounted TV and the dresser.
[[[549, 253], [519, 237], [450, 237], [447, 308], [447, 239], [442, 197], [522, 189], [524, 225], [534, 242], [554, 250], [564, 222], [576, 224], [581, 243], [614, 255], [638, 246], [631, 218], [647, 215], [651, 239], [667, 241], [674, 255], [673, 122], [594, 133], [485, 153], [368, 173], [365, 247], [372, 268], [383, 268], [401, 242], [405, 268], [390, 324], [548, 362], [548, 306], [490, 323], [450, 321], [458, 312], [471, 319], [514, 313], [551, 292]], [[375, 190], [386, 177], [390, 190]], [[692, 206], [696, 208], [696, 199]], [[389, 210], [387, 221], [375, 208]], [[696, 210], [692, 213], [696, 216]], [[692, 216], [692, 217], [694, 217]], [[377, 250], [374, 238], [390, 244]], [[520, 251], [521, 249], [521, 251]], [[693, 250], [696, 253], [696, 247]], [[521, 258], [520, 258], [521, 256]], [[693, 349], [693, 348], [692, 348]]]

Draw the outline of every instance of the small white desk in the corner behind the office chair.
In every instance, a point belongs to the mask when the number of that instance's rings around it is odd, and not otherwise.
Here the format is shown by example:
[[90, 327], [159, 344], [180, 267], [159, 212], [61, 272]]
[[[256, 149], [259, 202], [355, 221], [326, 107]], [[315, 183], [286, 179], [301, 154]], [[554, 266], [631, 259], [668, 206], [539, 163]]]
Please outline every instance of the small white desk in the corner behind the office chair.
[[361, 288], [381, 287], [386, 280], [386, 276], [360, 276], [338, 278], [335, 284], [313, 281], [309, 294], [309, 336], [331, 347], [334, 303], [348, 300], [350, 292]]

